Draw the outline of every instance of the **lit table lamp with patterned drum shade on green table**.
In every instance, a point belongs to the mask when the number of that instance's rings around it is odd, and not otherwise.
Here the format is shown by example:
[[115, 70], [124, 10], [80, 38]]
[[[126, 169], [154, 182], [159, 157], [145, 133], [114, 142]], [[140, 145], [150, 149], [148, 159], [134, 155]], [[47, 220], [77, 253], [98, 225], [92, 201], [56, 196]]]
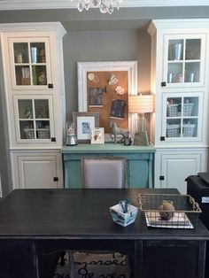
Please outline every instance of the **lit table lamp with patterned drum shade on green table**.
[[[145, 130], [144, 113], [153, 112], [153, 95], [137, 95], [128, 97], [128, 112], [137, 113], [137, 131], [135, 132], [134, 145], [149, 145], [147, 131]], [[139, 120], [141, 119], [141, 130]]]

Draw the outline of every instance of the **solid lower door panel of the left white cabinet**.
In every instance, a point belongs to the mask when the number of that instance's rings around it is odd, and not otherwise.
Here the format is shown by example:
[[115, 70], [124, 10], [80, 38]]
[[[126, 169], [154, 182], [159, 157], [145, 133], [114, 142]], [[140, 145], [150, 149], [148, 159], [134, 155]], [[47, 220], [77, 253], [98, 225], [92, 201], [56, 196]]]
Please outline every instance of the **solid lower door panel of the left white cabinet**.
[[55, 157], [18, 157], [19, 185], [23, 189], [57, 188]]

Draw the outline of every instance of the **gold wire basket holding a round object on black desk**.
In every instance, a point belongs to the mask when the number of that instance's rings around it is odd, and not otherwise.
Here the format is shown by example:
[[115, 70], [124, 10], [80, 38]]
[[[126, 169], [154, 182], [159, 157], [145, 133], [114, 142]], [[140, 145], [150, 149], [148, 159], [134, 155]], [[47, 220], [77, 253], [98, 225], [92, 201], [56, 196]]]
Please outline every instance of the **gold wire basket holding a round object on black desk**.
[[147, 226], [156, 228], [195, 228], [202, 211], [190, 195], [139, 194], [139, 209]]

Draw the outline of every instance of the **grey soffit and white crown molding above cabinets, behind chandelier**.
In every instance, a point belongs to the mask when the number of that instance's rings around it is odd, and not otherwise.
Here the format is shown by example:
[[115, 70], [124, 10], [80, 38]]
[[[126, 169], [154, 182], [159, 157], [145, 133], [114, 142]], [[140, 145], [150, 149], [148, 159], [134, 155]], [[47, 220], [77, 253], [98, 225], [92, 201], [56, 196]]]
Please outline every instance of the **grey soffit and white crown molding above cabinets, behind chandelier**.
[[66, 30], [139, 29], [151, 19], [209, 18], [209, 0], [123, 0], [120, 10], [78, 12], [78, 0], [0, 0], [0, 23], [61, 21]]

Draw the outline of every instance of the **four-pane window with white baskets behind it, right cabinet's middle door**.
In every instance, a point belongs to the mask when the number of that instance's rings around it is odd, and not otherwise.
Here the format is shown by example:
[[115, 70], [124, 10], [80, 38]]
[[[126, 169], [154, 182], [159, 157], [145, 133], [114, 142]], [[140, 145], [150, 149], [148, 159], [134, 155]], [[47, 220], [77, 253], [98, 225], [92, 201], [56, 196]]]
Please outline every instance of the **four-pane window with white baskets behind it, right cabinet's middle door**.
[[166, 140], [197, 141], [202, 122], [202, 94], [165, 94], [163, 135]]

